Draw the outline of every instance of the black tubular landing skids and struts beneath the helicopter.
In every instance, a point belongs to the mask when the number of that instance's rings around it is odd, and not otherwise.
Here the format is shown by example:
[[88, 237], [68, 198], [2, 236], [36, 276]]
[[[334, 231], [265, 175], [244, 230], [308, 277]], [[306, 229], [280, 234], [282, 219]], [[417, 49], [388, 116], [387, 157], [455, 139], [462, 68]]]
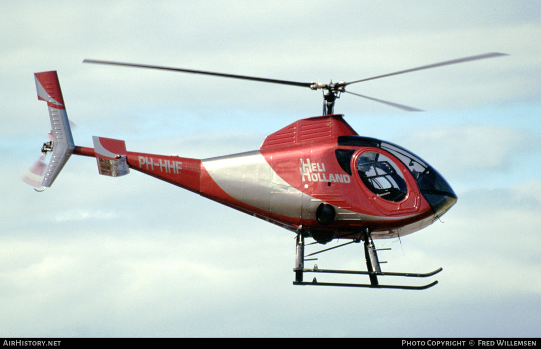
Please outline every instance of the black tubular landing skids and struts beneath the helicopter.
[[[296, 240], [296, 262], [295, 262], [295, 281], [293, 285], [309, 285], [309, 286], [342, 286], [342, 287], [366, 287], [366, 288], [394, 288], [394, 289], [427, 289], [436, 284], [438, 281], [433, 281], [430, 284], [422, 286], [409, 286], [409, 285], [380, 285], [378, 282], [378, 276], [405, 276], [407, 278], [427, 278], [428, 276], [436, 275], [441, 272], [443, 268], [438, 268], [430, 273], [395, 273], [395, 272], [381, 272], [379, 265], [377, 249], [374, 247], [374, 243], [370, 236], [370, 232], [364, 233], [364, 248], [366, 256], [366, 267], [368, 271], [353, 271], [353, 270], [337, 270], [337, 269], [319, 269], [317, 265], [313, 269], [304, 268], [304, 236], [302, 234], [297, 235]], [[370, 277], [370, 284], [348, 284], [342, 282], [319, 282], [314, 278], [312, 282], [303, 281], [304, 273], [328, 273], [328, 274], [361, 274], [368, 275]]]

